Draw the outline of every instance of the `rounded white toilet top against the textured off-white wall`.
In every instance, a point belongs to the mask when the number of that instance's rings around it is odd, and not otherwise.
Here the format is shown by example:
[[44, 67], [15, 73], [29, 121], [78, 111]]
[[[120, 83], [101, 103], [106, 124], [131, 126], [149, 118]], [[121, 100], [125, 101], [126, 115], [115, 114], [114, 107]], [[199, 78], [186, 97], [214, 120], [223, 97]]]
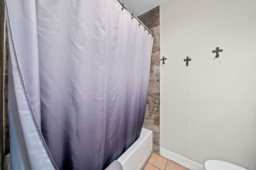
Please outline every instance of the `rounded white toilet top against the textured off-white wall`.
[[240, 166], [230, 164], [221, 160], [207, 160], [203, 170], [246, 170]]

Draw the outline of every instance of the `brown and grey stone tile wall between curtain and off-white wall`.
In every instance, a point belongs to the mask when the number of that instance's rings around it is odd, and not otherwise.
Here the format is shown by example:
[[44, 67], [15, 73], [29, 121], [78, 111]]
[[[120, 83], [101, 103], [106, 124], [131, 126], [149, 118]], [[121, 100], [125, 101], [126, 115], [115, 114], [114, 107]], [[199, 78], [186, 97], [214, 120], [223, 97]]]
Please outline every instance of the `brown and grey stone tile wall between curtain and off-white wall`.
[[159, 7], [138, 17], [155, 34], [151, 55], [148, 101], [143, 127], [153, 131], [153, 151], [160, 152], [160, 17]]

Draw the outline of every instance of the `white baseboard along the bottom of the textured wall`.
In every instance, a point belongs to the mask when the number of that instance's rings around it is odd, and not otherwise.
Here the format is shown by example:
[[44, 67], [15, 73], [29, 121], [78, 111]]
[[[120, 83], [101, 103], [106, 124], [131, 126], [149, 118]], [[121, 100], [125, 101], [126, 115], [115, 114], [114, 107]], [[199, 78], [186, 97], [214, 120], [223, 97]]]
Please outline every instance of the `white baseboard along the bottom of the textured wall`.
[[185, 158], [163, 148], [160, 148], [160, 155], [173, 162], [176, 162], [177, 164], [180, 164], [181, 166], [184, 166], [185, 168], [188, 168], [189, 170], [203, 170], [204, 168], [203, 165], [198, 164], [197, 162], [194, 162], [188, 158]]

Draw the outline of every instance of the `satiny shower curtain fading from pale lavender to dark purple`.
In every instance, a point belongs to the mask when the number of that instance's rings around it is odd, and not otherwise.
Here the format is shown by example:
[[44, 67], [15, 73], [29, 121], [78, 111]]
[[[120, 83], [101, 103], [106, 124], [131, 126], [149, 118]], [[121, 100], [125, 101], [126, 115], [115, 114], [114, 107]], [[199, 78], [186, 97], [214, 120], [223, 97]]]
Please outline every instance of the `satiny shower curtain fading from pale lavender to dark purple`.
[[12, 170], [101, 170], [140, 135], [153, 37], [117, 0], [6, 0]]

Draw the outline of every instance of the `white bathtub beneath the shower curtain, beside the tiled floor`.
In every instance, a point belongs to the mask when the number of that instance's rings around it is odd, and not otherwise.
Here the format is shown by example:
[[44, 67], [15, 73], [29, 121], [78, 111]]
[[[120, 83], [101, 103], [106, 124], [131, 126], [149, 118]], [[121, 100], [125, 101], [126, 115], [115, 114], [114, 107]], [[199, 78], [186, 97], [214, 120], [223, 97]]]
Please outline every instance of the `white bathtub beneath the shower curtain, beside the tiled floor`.
[[152, 131], [142, 128], [140, 137], [117, 160], [124, 170], [140, 170], [152, 151]]

